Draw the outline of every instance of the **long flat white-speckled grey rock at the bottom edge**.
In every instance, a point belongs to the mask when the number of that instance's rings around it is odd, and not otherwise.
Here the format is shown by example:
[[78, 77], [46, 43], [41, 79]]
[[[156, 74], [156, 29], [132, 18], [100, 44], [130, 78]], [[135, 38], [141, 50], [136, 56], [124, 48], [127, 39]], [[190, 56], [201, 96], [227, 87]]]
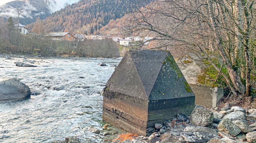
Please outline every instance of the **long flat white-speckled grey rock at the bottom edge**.
[[181, 132], [181, 137], [189, 143], [203, 143], [208, 142], [214, 137], [220, 138], [219, 136], [208, 132]]

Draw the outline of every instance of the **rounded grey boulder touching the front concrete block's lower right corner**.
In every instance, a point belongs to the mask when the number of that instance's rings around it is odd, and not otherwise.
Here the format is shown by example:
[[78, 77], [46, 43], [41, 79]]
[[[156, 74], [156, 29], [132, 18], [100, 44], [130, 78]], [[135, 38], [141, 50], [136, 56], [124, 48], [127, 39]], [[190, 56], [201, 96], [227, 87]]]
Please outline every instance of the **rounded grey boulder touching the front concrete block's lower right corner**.
[[190, 123], [196, 126], [211, 127], [213, 123], [213, 112], [206, 108], [195, 108], [190, 116]]

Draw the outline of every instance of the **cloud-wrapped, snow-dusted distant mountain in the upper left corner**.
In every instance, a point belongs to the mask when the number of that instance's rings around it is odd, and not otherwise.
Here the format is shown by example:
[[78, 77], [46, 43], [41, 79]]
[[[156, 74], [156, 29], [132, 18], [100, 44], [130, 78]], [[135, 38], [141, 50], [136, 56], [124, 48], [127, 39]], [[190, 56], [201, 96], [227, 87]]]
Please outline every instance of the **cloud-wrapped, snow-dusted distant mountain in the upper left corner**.
[[20, 23], [27, 25], [36, 21], [36, 18], [45, 19], [53, 12], [65, 8], [67, 5], [80, 0], [23, 0], [11, 1], [0, 6], [0, 17], [15, 18], [16, 9], [23, 10], [20, 16]]

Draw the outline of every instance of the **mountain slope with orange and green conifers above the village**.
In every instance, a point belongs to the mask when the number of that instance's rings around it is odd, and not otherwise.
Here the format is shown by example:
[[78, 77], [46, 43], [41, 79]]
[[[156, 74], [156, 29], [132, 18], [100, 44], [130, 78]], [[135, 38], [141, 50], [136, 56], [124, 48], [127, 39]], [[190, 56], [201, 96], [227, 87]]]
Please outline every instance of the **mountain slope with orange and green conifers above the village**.
[[[144, 1], [148, 4], [151, 0]], [[82, 0], [54, 12], [44, 20], [31, 23], [28, 28], [35, 33], [53, 31], [74, 31], [89, 25], [84, 33], [94, 33], [109, 23], [121, 18], [129, 10], [132, 0]]]

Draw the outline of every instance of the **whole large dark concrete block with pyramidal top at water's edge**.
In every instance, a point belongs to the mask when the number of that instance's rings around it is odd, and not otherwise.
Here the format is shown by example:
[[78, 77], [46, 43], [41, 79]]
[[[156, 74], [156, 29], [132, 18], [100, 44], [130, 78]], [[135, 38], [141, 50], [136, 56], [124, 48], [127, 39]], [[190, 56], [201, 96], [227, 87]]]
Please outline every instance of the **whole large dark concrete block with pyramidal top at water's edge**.
[[129, 50], [103, 90], [103, 120], [139, 135], [191, 114], [195, 95], [170, 52]]

